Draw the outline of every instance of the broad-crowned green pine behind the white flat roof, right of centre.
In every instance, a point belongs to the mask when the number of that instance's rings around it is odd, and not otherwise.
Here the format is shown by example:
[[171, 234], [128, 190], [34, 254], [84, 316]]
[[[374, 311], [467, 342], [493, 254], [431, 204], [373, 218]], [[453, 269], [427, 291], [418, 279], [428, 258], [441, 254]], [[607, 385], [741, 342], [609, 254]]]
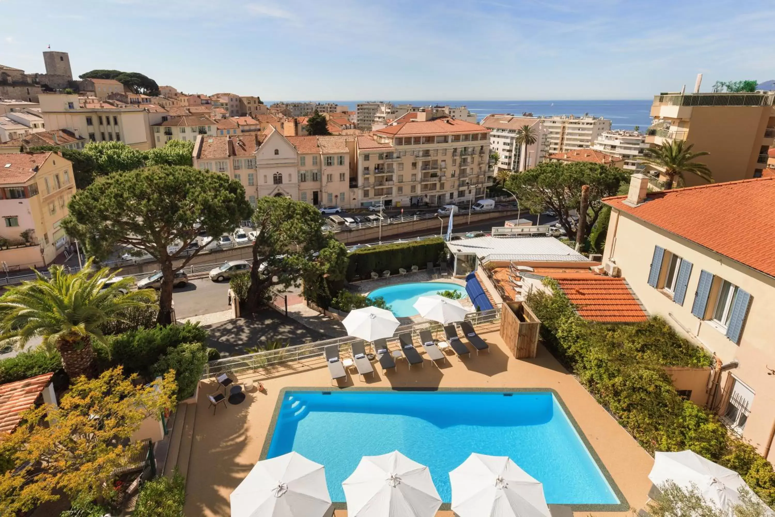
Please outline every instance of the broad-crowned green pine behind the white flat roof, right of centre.
[[572, 236], [576, 234], [576, 223], [571, 219], [570, 211], [579, 210], [581, 186], [589, 185], [589, 207], [583, 214], [587, 218], [584, 225], [586, 240], [605, 207], [601, 199], [616, 195], [624, 181], [627, 181], [627, 173], [617, 167], [551, 161], [542, 162], [529, 171], [512, 174], [506, 188], [515, 192], [523, 209], [528, 208], [534, 213], [543, 212], [545, 207], [552, 209], [560, 219], [560, 225]]

